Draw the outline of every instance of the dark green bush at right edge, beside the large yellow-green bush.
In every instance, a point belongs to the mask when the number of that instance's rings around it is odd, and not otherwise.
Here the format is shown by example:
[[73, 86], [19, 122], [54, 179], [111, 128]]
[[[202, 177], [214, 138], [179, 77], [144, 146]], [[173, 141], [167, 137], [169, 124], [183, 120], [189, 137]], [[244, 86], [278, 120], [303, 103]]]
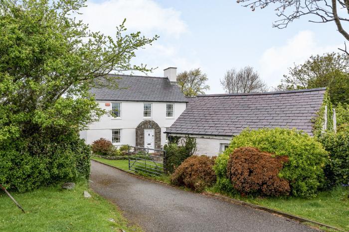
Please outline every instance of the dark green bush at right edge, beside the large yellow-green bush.
[[328, 187], [349, 184], [349, 130], [327, 133], [320, 138], [330, 161], [325, 168]]

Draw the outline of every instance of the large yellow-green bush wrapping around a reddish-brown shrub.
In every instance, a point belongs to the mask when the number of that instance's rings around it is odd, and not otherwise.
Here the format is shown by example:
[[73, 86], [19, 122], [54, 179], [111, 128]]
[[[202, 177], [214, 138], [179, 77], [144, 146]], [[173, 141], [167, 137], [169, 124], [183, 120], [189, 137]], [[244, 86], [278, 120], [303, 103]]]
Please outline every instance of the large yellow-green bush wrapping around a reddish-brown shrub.
[[323, 167], [327, 161], [327, 152], [321, 143], [306, 133], [289, 129], [244, 130], [234, 137], [229, 147], [216, 159], [214, 170], [217, 186], [221, 191], [231, 191], [232, 185], [226, 176], [229, 155], [236, 148], [254, 147], [262, 152], [288, 156], [279, 177], [290, 182], [294, 196], [311, 197], [324, 181]]

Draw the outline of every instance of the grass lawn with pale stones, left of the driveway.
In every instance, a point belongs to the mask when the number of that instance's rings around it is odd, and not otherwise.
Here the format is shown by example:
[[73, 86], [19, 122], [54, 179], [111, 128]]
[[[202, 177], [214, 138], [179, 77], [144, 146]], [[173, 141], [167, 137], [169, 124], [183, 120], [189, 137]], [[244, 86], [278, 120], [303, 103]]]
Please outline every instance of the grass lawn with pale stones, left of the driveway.
[[[84, 190], [92, 198], [85, 199]], [[120, 211], [88, 189], [86, 181], [78, 182], [73, 190], [55, 186], [11, 194], [26, 213], [1, 192], [1, 231], [141, 231], [136, 226], [128, 227]]]

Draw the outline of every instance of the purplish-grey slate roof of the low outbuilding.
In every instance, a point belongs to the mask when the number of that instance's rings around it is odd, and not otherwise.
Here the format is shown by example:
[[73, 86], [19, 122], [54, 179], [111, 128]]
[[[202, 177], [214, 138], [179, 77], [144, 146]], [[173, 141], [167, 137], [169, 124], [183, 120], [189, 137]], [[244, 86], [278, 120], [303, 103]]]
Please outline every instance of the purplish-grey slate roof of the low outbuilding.
[[248, 94], [198, 95], [166, 133], [238, 135], [247, 127], [296, 128], [310, 135], [326, 88]]

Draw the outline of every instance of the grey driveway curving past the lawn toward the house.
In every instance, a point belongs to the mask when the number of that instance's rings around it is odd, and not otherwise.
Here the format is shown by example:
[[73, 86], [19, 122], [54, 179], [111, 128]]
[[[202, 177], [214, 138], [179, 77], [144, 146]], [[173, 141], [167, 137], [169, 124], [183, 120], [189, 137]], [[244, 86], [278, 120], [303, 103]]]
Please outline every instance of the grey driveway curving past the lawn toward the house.
[[91, 161], [92, 189], [147, 232], [317, 231], [247, 206], [137, 178]]

